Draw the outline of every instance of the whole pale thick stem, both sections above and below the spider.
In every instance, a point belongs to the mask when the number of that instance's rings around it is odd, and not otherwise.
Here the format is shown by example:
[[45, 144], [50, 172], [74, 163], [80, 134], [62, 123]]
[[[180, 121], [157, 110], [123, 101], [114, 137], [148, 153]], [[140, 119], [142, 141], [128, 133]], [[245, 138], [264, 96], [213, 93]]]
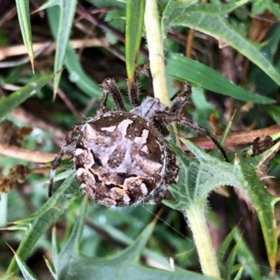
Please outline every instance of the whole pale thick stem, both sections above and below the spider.
[[[165, 71], [165, 55], [156, 0], [146, 0], [144, 23], [154, 94], [155, 97], [160, 99], [162, 104], [170, 106], [171, 101], [169, 99]], [[177, 145], [180, 146], [179, 139], [177, 139]], [[190, 228], [193, 231], [200, 264], [202, 265], [202, 272], [215, 278], [221, 278], [209, 228], [207, 227], [204, 207], [193, 207], [193, 209], [186, 211], [186, 214]]]

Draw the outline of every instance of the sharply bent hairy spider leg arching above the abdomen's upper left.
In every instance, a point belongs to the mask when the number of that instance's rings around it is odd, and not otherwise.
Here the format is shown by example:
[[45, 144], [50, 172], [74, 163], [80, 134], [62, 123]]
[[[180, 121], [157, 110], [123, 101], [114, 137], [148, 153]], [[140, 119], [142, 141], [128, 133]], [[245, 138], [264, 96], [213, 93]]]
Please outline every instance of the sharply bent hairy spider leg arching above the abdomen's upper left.
[[[102, 97], [104, 94], [110, 92], [112, 94], [113, 101], [115, 102], [118, 111], [126, 112], [127, 109], [125, 109], [125, 104], [123, 103], [123, 98], [122, 95], [120, 94], [120, 90], [118, 89], [118, 85], [116, 84], [116, 81], [111, 78], [106, 78], [102, 83], [102, 87], [103, 87]], [[106, 103], [106, 97], [103, 102], [104, 107], [105, 107], [105, 103]]]

